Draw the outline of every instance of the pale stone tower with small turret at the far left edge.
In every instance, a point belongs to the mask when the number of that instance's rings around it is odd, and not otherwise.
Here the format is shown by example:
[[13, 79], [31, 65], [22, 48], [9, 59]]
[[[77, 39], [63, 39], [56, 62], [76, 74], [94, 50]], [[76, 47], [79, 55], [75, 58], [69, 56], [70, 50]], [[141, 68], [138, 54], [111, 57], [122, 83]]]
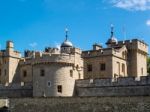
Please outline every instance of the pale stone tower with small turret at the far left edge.
[[4, 85], [18, 81], [19, 52], [14, 51], [13, 42], [7, 41], [6, 50], [0, 51], [0, 81]]

